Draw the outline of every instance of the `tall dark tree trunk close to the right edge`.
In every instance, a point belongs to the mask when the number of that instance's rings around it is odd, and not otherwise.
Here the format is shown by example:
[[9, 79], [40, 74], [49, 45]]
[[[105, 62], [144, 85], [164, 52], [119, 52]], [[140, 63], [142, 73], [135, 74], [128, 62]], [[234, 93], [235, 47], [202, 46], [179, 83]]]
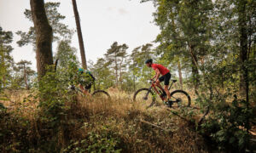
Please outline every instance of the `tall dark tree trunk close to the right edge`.
[[247, 13], [246, 13], [246, 0], [238, 1], [238, 26], [240, 32], [240, 54], [239, 59], [241, 62], [241, 74], [240, 74], [240, 88], [241, 94], [248, 98], [248, 70], [246, 66], [247, 62]]

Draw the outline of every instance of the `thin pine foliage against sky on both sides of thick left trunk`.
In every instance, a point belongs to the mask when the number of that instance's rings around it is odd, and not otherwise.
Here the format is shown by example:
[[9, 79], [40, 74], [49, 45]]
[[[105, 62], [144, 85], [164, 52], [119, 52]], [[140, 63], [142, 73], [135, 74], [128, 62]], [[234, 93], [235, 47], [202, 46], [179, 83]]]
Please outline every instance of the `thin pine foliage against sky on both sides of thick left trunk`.
[[[61, 20], [64, 20], [66, 17], [61, 15], [58, 12], [60, 3], [45, 3], [45, 13], [49, 20], [49, 25], [52, 26], [53, 31], [53, 42], [61, 41], [61, 40], [69, 40], [73, 36], [73, 30], [70, 30], [67, 25], [61, 23]], [[24, 12], [26, 19], [32, 21], [32, 11], [30, 9], [26, 9]], [[29, 28], [29, 31], [17, 31], [17, 35], [20, 36], [20, 40], [17, 42], [20, 47], [32, 44], [36, 45], [36, 33], [34, 26]]]

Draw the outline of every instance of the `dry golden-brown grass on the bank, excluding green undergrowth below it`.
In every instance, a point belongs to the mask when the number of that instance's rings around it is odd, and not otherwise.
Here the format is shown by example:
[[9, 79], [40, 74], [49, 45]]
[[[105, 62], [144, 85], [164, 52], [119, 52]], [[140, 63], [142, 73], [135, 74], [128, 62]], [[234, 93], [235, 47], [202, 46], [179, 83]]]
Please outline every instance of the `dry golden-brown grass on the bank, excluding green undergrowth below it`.
[[[70, 109], [67, 110], [67, 115], [63, 118], [65, 122], [58, 133], [52, 132], [44, 122], [38, 121], [37, 103], [23, 100], [28, 95], [26, 92], [9, 95], [11, 100], [4, 101], [3, 104], [8, 106], [12, 116], [22, 116], [23, 120], [29, 121], [26, 134], [22, 137], [38, 141], [55, 136], [61, 150], [67, 148], [71, 139], [88, 139], [90, 133], [109, 133], [114, 139], [119, 139], [116, 147], [122, 149], [122, 152], [208, 152], [204, 140], [187, 122], [172, 116], [163, 106], [145, 109], [134, 103], [129, 94], [112, 93], [111, 100], [79, 97], [78, 102], [67, 103]], [[18, 138], [10, 141], [16, 139]], [[14, 142], [9, 142], [11, 143]], [[28, 144], [33, 145], [32, 142]], [[16, 148], [24, 149], [21, 146]], [[33, 148], [33, 151], [39, 150], [35, 149], [37, 147]], [[40, 150], [44, 150], [44, 147]]]

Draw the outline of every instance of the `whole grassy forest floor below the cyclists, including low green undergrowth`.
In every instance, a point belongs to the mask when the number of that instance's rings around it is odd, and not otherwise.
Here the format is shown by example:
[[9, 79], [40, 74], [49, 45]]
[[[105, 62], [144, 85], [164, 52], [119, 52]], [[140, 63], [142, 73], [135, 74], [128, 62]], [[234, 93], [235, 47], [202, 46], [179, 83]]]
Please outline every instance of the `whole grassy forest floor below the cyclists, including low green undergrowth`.
[[11, 100], [3, 105], [8, 108], [6, 120], [13, 122], [0, 122], [10, 131], [5, 135], [8, 140], [0, 144], [0, 152], [212, 152], [189, 122], [163, 105], [146, 110], [128, 94], [112, 94], [111, 100], [79, 98], [77, 103], [67, 103], [69, 109], [57, 131], [38, 121], [38, 104], [26, 99], [27, 92], [9, 95]]

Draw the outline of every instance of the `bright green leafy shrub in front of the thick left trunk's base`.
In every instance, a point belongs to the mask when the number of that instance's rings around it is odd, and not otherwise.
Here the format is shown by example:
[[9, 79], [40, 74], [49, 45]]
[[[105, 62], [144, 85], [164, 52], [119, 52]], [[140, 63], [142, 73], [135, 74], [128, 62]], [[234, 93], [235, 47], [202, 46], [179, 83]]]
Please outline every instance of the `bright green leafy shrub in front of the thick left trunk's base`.
[[48, 69], [46, 75], [38, 82], [38, 99], [40, 101], [38, 107], [44, 113], [42, 119], [52, 122], [52, 126], [55, 127], [55, 123], [60, 122], [65, 110], [67, 85], [61, 83], [60, 76], [53, 71], [52, 67]]

